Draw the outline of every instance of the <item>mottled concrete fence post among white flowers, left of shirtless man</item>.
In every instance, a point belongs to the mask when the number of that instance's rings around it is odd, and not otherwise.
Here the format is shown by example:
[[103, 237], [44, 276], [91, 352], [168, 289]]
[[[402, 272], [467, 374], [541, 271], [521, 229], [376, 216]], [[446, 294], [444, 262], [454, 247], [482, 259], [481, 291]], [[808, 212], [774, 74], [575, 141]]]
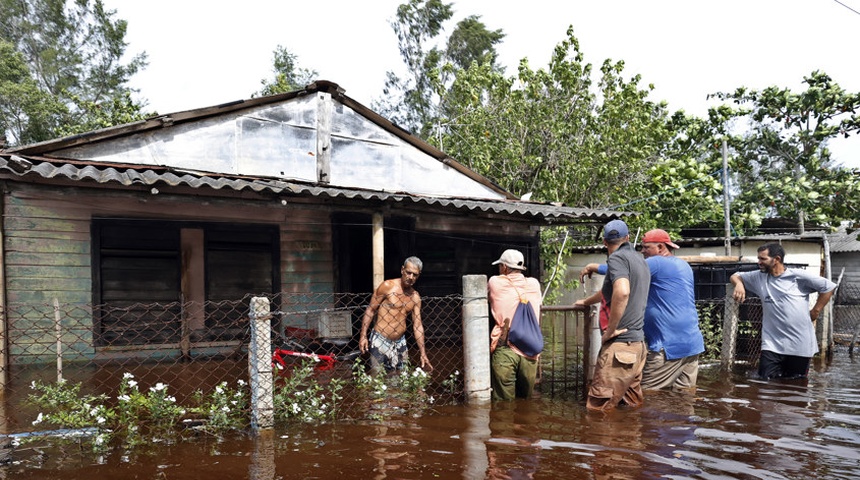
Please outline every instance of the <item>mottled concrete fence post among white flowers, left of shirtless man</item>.
[[272, 428], [274, 419], [274, 388], [272, 378], [272, 314], [269, 299], [251, 299], [249, 314], [251, 340], [248, 344], [248, 376], [251, 384], [251, 427], [254, 430]]

